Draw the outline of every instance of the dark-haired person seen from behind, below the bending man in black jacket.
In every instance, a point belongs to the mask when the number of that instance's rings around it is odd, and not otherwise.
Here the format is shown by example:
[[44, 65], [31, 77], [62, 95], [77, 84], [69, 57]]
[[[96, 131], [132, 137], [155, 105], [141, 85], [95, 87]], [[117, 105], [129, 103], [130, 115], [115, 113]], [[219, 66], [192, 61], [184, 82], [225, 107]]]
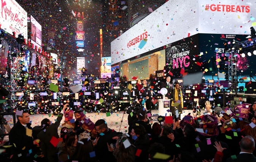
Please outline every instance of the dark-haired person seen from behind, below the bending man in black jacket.
[[81, 139], [81, 141], [78, 141], [75, 153], [68, 161], [97, 162], [95, 156], [90, 156], [90, 153], [92, 152], [94, 152], [94, 146], [92, 144], [92, 141], [88, 140], [87, 138], [83, 138]]

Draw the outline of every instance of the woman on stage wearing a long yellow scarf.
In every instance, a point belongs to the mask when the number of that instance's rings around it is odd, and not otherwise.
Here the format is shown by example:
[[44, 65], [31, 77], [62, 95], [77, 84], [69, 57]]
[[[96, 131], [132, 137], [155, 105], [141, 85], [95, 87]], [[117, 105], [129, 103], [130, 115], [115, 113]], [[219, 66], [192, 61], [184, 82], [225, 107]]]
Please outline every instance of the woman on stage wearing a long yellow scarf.
[[[179, 105], [177, 105], [176, 107], [173, 107], [173, 109], [178, 109], [179, 113], [182, 113], [182, 109], [183, 109], [183, 95], [182, 95], [182, 91], [180, 89], [180, 84], [179, 83], [174, 83], [175, 87], [174, 89], [172, 90], [172, 97], [173, 97], [173, 100], [172, 100], [172, 104], [174, 104], [175, 102], [177, 101], [180, 101]], [[172, 114], [174, 115], [174, 114]]]

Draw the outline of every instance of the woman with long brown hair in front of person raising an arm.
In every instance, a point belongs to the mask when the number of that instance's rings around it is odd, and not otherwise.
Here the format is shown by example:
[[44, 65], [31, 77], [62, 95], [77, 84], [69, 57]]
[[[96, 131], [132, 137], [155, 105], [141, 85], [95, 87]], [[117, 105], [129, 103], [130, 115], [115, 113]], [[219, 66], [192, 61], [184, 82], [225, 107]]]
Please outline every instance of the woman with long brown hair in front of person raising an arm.
[[59, 142], [57, 148], [59, 148], [58, 159], [59, 162], [67, 162], [75, 153], [77, 145], [77, 136], [74, 132], [68, 132], [65, 138], [65, 142]]

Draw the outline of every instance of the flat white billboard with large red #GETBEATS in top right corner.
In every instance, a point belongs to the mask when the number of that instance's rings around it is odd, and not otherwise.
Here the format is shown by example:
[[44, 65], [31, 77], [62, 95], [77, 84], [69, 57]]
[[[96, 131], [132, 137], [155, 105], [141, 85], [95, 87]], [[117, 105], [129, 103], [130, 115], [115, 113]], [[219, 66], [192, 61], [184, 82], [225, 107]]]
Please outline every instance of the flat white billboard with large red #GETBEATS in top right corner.
[[198, 2], [199, 33], [249, 34], [255, 22], [253, 0], [221, 0]]

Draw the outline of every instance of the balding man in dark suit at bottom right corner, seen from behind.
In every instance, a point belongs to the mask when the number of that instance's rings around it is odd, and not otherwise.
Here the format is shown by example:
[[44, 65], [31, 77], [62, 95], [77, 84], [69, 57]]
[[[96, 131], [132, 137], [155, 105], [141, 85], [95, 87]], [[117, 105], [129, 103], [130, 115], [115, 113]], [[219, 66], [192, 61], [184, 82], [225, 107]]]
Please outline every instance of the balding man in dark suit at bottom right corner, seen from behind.
[[253, 155], [253, 151], [255, 148], [255, 142], [253, 137], [250, 135], [245, 136], [239, 142], [241, 152], [237, 156], [236, 159], [232, 159], [231, 157], [227, 159], [227, 162], [256, 162], [256, 157]]

